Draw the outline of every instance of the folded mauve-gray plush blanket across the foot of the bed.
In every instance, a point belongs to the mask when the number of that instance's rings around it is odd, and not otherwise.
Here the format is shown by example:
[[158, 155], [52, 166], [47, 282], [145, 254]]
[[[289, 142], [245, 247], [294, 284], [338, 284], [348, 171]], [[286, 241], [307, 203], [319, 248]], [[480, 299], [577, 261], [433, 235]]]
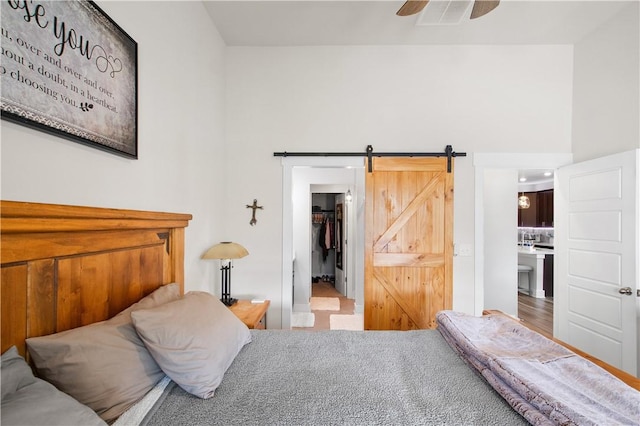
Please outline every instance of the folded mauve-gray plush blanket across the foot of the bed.
[[534, 425], [638, 425], [640, 392], [502, 315], [441, 311], [438, 330]]

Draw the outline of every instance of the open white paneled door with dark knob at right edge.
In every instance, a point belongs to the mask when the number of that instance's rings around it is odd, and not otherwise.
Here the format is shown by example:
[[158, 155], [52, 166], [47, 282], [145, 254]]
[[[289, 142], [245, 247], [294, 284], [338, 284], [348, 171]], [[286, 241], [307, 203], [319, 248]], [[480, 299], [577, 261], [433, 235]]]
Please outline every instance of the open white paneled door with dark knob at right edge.
[[558, 169], [554, 336], [638, 374], [640, 150]]

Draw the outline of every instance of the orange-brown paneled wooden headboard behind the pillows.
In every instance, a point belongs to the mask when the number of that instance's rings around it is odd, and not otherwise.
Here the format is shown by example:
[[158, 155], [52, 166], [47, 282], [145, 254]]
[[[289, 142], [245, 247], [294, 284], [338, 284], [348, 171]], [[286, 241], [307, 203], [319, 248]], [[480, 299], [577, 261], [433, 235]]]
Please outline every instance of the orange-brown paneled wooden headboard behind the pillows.
[[189, 214], [0, 201], [2, 352], [184, 291]]

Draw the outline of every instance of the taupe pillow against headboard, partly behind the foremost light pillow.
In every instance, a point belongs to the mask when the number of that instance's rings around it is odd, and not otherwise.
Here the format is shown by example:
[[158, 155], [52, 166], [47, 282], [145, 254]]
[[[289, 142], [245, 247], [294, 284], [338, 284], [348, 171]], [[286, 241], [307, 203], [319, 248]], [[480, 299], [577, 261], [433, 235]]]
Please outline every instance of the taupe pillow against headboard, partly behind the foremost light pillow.
[[107, 321], [27, 339], [38, 376], [105, 421], [115, 420], [164, 377], [133, 328], [131, 312], [179, 297], [178, 284], [168, 284]]

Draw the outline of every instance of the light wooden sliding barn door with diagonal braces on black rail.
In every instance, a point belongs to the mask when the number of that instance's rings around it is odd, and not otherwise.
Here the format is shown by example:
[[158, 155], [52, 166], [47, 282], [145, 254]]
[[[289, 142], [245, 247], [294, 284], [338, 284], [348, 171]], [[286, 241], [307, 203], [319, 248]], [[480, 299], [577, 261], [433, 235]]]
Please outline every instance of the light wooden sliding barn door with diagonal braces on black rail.
[[451, 309], [453, 165], [373, 158], [366, 173], [366, 330], [435, 328]]

